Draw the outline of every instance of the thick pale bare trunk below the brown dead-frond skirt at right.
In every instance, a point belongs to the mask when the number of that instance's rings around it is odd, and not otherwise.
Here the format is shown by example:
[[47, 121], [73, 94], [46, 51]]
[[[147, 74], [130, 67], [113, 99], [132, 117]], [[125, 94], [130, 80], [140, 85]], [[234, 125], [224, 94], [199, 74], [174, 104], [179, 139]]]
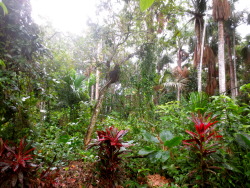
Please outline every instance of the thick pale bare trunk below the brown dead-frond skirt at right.
[[219, 92], [226, 94], [226, 73], [225, 73], [225, 55], [224, 55], [224, 23], [218, 21], [218, 62], [219, 62]]

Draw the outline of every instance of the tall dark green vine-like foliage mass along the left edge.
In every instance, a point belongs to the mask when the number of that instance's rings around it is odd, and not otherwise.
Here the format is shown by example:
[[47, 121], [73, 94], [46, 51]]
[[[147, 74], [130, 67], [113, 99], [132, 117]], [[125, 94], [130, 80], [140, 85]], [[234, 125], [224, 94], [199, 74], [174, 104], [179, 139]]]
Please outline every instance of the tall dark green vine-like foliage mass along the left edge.
[[8, 14], [0, 11], [0, 129], [1, 136], [14, 140], [27, 134], [35, 119], [30, 117], [37, 102], [33, 96], [43, 89], [45, 76], [36, 59], [46, 50], [32, 22], [29, 0], [3, 2]]

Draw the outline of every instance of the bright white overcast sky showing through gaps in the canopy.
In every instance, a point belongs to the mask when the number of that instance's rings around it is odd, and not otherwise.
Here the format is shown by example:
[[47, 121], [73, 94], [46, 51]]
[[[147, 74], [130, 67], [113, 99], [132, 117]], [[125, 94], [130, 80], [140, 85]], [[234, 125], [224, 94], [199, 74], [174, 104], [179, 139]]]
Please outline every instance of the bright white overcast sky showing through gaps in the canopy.
[[[51, 22], [61, 32], [80, 34], [86, 28], [88, 17], [95, 16], [98, 0], [31, 0], [32, 16], [39, 25]], [[237, 10], [250, 11], [250, 0], [239, 0]], [[250, 34], [250, 25], [241, 25], [237, 31], [244, 38]]]

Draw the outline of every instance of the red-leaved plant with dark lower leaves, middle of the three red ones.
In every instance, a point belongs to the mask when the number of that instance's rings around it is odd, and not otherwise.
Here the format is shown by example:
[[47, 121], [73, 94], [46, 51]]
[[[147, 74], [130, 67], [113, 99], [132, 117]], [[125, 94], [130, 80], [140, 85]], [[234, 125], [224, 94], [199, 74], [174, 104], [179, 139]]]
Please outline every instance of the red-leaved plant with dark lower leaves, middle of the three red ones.
[[123, 142], [122, 137], [127, 130], [118, 130], [115, 127], [106, 128], [106, 131], [97, 131], [97, 140], [89, 148], [98, 148], [97, 171], [100, 173], [100, 187], [113, 188], [119, 183], [121, 175], [121, 154], [129, 145]]

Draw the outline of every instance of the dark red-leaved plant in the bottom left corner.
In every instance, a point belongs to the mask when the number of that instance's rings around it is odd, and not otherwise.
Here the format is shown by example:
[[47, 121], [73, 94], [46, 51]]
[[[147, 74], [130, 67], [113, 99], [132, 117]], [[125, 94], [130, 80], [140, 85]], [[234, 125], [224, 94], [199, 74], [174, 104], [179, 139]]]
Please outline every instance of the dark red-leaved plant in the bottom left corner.
[[35, 148], [26, 143], [25, 138], [19, 145], [10, 146], [0, 138], [0, 186], [1, 187], [55, 187], [56, 171], [49, 168], [39, 173], [40, 165], [33, 163]]

